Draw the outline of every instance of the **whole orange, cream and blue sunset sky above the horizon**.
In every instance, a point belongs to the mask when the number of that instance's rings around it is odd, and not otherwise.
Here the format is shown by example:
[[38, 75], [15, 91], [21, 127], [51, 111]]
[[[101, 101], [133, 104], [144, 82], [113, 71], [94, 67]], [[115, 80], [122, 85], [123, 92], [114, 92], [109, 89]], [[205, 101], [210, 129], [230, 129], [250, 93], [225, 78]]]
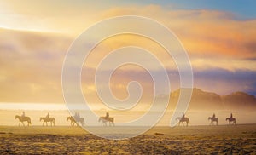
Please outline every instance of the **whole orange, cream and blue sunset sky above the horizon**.
[[[236, 91], [256, 95], [255, 4], [253, 0], [1, 0], [0, 102], [62, 103], [61, 70], [69, 46], [89, 26], [119, 15], [145, 16], [171, 29], [188, 52], [196, 88], [218, 95]], [[178, 89], [177, 66], [165, 49], [147, 38], [120, 35], [100, 43], [84, 64], [88, 67], [81, 74], [82, 88], [89, 100], [99, 101], [93, 83], [97, 64], [113, 49], [129, 45], [157, 55], [166, 66], [172, 90]], [[125, 99], [131, 80], [142, 83], [146, 94], [142, 100], [147, 101], [154, 86], [137, 66], [114, 72], [113, 94]]]

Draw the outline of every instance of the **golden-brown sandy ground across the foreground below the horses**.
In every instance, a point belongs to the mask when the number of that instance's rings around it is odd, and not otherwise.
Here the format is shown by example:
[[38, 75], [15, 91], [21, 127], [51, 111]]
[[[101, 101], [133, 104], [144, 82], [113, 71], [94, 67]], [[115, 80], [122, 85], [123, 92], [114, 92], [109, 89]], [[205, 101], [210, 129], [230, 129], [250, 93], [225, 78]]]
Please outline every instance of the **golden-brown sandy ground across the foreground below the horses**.
[[256, 125], [155, 127], [121, 141], [79, 127], [0, 126], [0, 141], [0, 154], [256, 154]]

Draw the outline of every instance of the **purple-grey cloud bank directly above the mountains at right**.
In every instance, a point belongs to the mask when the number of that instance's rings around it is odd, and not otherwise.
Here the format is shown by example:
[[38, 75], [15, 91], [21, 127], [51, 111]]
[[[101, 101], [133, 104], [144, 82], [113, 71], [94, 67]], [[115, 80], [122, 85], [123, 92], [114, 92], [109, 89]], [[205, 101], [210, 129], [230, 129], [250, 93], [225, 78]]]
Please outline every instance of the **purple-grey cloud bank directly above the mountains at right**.
[[243, 91], [252, 95], [256, 91], [256, 72], [236, 70], [234, 72], [221, 68], [194, 71], [195, 87], [227, 95], [231, 92]]

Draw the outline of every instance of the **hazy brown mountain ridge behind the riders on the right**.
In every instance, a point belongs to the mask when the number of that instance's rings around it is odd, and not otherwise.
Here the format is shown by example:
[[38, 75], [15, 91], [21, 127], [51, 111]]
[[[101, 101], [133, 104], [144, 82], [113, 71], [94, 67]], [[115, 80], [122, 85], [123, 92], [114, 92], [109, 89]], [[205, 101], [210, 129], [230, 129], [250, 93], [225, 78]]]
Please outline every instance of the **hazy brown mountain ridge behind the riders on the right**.
[[[180, 89], [171, 93], [170, 103], [172, 108], [177, 104]], [[193, 89], [189, 109], [192, 110], [246, 110], [256, 109], [256, 98], [244, 92], [236, 92], [230, 95], [218, 95], [201, 89]]]

